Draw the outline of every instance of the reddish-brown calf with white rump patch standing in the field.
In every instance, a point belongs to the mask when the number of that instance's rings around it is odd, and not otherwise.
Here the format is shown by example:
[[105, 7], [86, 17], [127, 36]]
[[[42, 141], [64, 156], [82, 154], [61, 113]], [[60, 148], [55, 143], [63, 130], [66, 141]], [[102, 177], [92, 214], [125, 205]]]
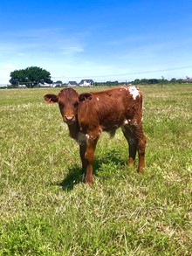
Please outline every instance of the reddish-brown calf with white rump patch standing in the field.
[[139, 154], [138, 172], [145, 167], [146, 136], [142, 128], [142, 94], [137, 86], [120, 86], [102, 92], [77, 93], [72, 88], [58, 95], [46, 94], [49, 103], [58, 102], [72, 139], [79, 143], [85, 182], [93, 183], [94, 150], [102, 131], [115, 134], [121, 128], [129, 145], [130, 165]]

